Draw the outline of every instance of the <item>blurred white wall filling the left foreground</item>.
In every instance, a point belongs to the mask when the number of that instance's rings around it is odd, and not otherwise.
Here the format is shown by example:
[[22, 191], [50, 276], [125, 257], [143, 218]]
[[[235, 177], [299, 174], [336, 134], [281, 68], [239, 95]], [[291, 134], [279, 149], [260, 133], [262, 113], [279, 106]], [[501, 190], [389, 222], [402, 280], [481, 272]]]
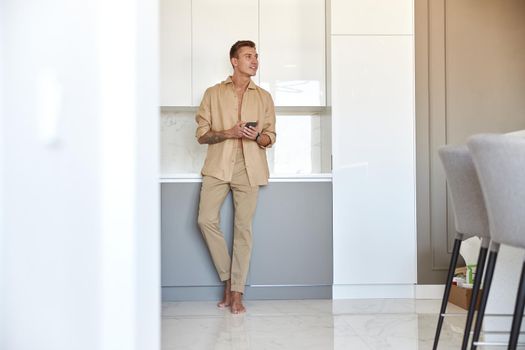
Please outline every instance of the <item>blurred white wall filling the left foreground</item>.
[[158, 349], [157, 3], [1, 0], [0, 349]]

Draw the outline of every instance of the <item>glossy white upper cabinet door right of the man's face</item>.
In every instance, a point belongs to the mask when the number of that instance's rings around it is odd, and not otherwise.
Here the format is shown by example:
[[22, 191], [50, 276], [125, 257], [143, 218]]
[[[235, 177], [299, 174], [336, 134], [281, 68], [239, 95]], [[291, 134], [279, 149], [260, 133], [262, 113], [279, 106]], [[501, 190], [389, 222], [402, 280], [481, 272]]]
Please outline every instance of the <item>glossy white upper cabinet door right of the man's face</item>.
[[261, 87], [277, 106], [326, 105], [325, 1], [260, 0]]

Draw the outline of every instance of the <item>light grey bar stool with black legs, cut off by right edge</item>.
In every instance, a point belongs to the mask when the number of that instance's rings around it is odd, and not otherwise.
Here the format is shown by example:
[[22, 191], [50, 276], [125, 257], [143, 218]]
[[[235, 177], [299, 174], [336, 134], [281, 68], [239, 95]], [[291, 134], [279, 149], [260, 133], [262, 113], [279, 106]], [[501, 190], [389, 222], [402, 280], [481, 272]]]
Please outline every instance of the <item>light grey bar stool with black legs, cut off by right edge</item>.
[[[472, 348], [475, 349], [485, 315], [500, 244], [525, 248], [525, 139], [505, 135], [476, 135], [469, 139], [485, 198], [492, 244]], [[525, 262], [512, 318], [508, 349], [516, 349], [525, 307]]]

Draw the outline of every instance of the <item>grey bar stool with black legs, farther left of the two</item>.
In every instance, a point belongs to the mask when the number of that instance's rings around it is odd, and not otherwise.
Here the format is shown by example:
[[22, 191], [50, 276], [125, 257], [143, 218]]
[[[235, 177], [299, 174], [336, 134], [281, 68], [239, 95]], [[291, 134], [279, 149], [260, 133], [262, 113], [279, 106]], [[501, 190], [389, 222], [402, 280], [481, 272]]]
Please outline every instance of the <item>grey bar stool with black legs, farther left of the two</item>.
[[439, 156], [447, 178], [452, 206], [454, 208], [454, 221], [456, 227], [456, 238], [450, 259], [445, 293], [441, 301], [436, 335], [434, 337], [433, 349], [436, 350], [439, 342], [443, 320], [446, 315], [446, 307], [452, 286], [452, 278], [456, 268], [461, 242], [472, 236], [481, 238], [481, 249], [476, 268], [476, 278], [472, 288], [472, 299], [470, 301], [465, 331], [463, 334], [462, 349], [468, 346], [470, 329], [474, 319], [476, 301], [478, 299], [484, 264], [490, 244], [489, 224], [483, 194], [478, 181], [476, 168], [467, 146], [444, 146], [439, 149]]

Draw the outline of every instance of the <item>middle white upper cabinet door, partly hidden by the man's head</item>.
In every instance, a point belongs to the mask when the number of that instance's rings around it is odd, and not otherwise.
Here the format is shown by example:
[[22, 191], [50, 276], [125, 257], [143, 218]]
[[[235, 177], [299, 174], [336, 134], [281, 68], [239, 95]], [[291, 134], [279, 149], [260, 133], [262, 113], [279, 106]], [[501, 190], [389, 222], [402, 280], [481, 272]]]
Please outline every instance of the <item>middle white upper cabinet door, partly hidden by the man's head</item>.
[[257, 0], [193, 0], [193, 105], [201, 103], [206, 88], [232, 74], [230, 47], [237, 40], [257, 43], [257, 5]]

